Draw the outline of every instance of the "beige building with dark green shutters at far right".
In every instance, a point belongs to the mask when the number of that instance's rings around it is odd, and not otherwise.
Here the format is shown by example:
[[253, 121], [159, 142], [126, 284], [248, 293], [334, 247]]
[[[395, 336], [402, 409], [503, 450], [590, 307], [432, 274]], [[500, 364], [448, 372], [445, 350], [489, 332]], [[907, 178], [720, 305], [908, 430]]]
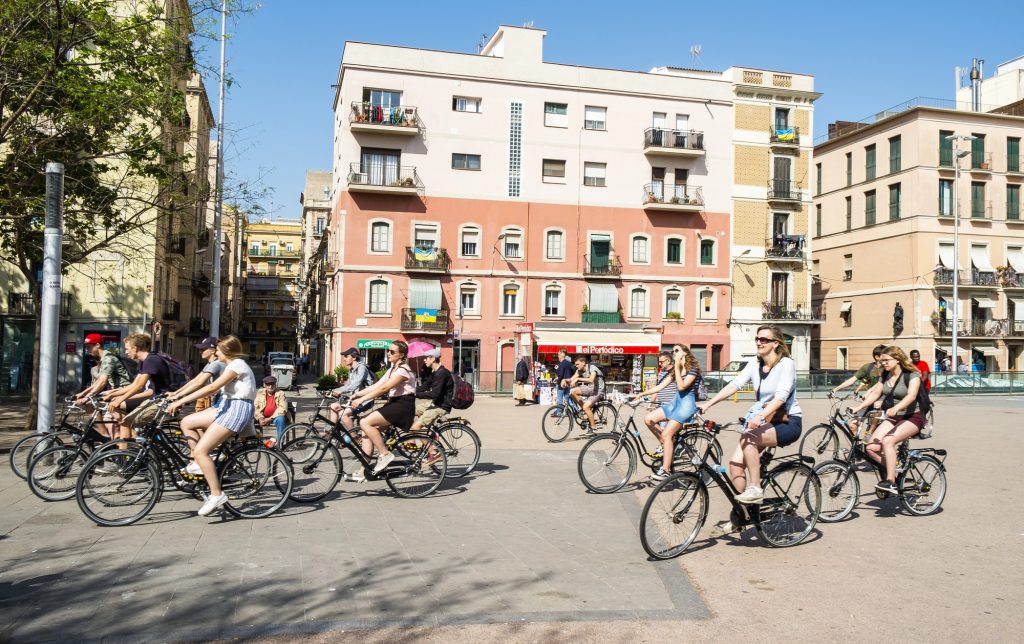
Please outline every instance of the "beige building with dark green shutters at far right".
[[888, 342], [941, 360], [957, 307], [962, 359], [1021, 369], [1024, 118], [911, 101], [829, 131], [814, 148], [814, 302], [826, 320], [812, 362], [855, 369]]

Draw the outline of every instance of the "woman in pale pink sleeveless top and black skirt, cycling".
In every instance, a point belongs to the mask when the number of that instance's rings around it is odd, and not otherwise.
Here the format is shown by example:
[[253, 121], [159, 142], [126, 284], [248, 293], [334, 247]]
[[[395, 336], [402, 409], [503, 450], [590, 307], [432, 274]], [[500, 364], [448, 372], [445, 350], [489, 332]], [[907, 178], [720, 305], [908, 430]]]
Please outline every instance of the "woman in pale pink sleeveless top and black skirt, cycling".
[[384, 471], [394, 455], [384, 445], [381, 430], [388, 425], [408, 430], [416, 420], [416, 375], [409, 369], [409, 345], [401, 340], [395, 340], [387, 349], [387, 359], [391, 367], [375, 384], [355, 392], [348, 401], [349, 406], [357, 407], [368, 400], [387, 392], [387, 402], [380, 410], [365, 416], [359, 421], [362, 429], [362, 453], [367, 456], [377, 448], [377, 466], [374, 474]]

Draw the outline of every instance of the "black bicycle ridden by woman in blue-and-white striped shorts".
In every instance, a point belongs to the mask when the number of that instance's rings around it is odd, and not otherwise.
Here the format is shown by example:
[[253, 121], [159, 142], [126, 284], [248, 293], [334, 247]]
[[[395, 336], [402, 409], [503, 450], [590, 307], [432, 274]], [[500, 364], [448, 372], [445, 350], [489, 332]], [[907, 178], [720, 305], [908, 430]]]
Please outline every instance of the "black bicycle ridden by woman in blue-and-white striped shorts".
[[[155, 400], [157, 417], [137, 430], [136, 445], [94, 454], [85, 464], [75, 486], [78, 507], [86, 517], [103, 526], [130, 525], [145, 517], [163, 496], [163, 477], [174, 486], [205, 499], [206, 478], [184, 468], [186, 457], [171, 446], [163, 421], [169, 401]], [[273, 449], [265, 447], [250, 425], [249, 431], [223, 443], [214, 455], [217, 476], [227, 495], [223, 508], [240, 518], [262, 518], [276, 512], [292, 491], [292, 466]]]

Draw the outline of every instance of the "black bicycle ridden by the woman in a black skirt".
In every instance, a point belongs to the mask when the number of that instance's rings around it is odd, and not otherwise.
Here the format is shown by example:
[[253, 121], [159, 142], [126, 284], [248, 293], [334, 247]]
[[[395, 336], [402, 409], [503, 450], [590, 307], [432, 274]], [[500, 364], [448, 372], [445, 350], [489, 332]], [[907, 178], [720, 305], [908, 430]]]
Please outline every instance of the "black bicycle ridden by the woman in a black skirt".
[[[358, 414], [353, 418], [358, 421]], [[344, 446], [362, 468], [362, 480], [387, 483], [394, 493], [407, 499], [419, 499], [436, 490], [447, 471], [447, 456], [440, 443], [427, 433], [398, 435], [395, 428], [383, 432], [385, 444], [395, 455], [383, 471], [374, 474], [371, 458], [362, 453], [358, 426], [345, 429], [341, 423], [333, 426], [327, 438], [310, 432], [281, 447], [296, 471], [296, 482], [290, 493], [297, 503], [313, 503], [324, 499], [345, 475], [339, 446]], [[408, 486], [407, 486], [408, 485]]]

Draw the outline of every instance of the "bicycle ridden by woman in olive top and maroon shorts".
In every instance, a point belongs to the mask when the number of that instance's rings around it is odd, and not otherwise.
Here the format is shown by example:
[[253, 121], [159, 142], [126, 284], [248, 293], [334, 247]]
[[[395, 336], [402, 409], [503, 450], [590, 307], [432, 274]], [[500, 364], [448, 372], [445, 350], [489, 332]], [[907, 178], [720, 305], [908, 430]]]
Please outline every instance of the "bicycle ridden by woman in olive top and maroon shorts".
[[[868, 416], [882, 415], [882, 411], [868, 413]], [[858, 463], [870, 466], [880, 481], [886, 475], [885, 465], [867, 457], [867, 439], [874, 429], [868, 423], [864, 423], [864, 427], [862, 432], [854, 434], [848, 458], [823, 461], [814, 467], [824, 490], [820, 519], [825, 523], [842, 521], [856, 507], [860, 499]], [[937, 447], [911, 449], [909, 443], [904, 440], [896, 446], [896, 496], [900, 506], [914, 516], [935, 514], [946, 497], [946, 450]], [[879, 489], [874, 493], [881, 500], [890, 497], [890, 492]]]

